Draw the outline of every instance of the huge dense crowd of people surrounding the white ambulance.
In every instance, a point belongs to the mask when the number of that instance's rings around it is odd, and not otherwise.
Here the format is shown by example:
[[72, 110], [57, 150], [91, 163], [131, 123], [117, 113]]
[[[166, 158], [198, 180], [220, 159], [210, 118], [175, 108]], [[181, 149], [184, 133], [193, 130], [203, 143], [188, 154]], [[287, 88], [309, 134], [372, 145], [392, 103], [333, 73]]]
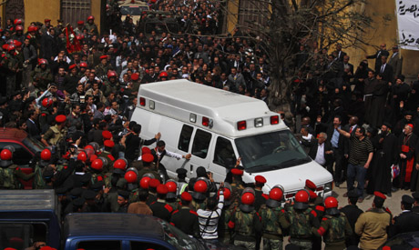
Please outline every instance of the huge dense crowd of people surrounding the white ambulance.
[[[147, 34], [129, 16], [120, 21], [118, 5], [110, 2], [112, 34], [99, 34], [94, 16], [79, 20], [68, 37], [71, 29], [61, 20], [28, 25], [17, 18], [0, 30], [0, 125], [26, 131], [46, 146], [29, 175], [13, 163], [15, 149], [5, 146], [0, 188], [23, 188], [20, 180], [32, 179], [32, 188], [56, 189], [62, 215], [154, 215], [187, 235], [249, 249], [282, 249], [286, 235], [292, 249], [321, 249], [322, 240], [326, 249], [376, 249], [388, 235], [417, 230], [419, 223], [411, 223], [419, 216], [417, 193], [404, 195], [400, 216], [383, 206], [386, 195], [400, 188], [419, 191], [419, 81], [404, 82], [396, 45], [392, 55], [381, 45], [355, 69], [342, 45], [328, 54], [301, 41], [288, 69], [295, 71], [291, 115], [294, 121], [302, 117], [295, 123], [301, 128], [284, 121], [336, 186], [346, 182], [349, 205], [338, 210], [337, 200], [318, 197], [310, 180], [291, 203], [281, 184], [263, 194], [263, 176], [243, 183], [240, 160], [219, 187], [205, 168], [189, 182], [184, 169], [169, 179], [162, 157], [192, 156], [168, 152], [159, 133], [141, 139], [141, 125], [130, 121], [140, 85], [173, 79], [270, 105], [273, 69], [261, 45], [240, 28], [217, 37], [220, 1], [148, 1], [150, 9], [176, 20], [178, 34]], [[365, 195], [374, 199], [363, 213], [356, 204]]]

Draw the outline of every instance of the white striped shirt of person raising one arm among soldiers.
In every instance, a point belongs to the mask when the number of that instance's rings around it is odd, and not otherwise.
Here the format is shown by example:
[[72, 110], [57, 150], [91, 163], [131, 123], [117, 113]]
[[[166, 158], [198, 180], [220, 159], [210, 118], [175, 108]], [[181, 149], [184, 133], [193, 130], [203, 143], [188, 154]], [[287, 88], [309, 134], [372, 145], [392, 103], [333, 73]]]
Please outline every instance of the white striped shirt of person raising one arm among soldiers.
[[224, 195], [222, 190], [220, 190], [220, 200], [217, 210], [203, 210], [198, 209], [198, 219], [199, 219], [199, 231], [200, 235], [204, 240], [218, 239], [219, 235], [217, 233], [217, 228], [219, 225], [220, 215], [222, 207], [224, 205]]

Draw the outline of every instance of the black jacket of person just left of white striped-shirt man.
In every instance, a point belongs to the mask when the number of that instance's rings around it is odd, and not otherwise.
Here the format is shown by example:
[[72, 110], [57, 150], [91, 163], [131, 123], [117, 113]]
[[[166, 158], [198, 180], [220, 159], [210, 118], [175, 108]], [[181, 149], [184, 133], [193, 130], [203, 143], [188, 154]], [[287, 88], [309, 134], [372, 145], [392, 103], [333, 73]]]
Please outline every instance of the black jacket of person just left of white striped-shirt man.
[[189, 206], [182, 206], [171, 215], [170, 224], [178, 227], [183, 233], [199, 237], [199, 221], [197, 212]]

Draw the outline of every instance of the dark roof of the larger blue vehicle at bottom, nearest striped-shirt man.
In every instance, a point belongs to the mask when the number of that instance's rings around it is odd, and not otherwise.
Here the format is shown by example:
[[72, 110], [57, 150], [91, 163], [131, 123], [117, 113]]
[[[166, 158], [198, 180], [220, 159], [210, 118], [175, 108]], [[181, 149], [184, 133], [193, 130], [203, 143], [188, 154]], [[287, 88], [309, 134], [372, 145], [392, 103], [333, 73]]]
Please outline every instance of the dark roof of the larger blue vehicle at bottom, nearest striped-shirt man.
[[158, 218], [123, 213], [77, 213], [66, 215], [64, 234], [70, 236], [112, 235], [164, 239]]

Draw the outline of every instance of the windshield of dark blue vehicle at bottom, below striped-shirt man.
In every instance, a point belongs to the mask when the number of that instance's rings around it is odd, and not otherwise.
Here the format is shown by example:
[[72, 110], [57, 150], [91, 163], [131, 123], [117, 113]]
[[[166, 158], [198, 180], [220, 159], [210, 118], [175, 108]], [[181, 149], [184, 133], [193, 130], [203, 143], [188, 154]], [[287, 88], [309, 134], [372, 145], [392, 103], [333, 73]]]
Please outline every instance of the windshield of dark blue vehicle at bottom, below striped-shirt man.
[[189, 237], [189, 235], [185, 235], [182, 231], [176, 228], [169, 223], [158, 220], [158, 222], [163, 226], [163, 230], [165, 232], [165, 241], [169, 243], [169, 245], [173, 245], [176, 249], [190, 249], [190, 250], [204, 250], [205, 247], [195, 238]]

